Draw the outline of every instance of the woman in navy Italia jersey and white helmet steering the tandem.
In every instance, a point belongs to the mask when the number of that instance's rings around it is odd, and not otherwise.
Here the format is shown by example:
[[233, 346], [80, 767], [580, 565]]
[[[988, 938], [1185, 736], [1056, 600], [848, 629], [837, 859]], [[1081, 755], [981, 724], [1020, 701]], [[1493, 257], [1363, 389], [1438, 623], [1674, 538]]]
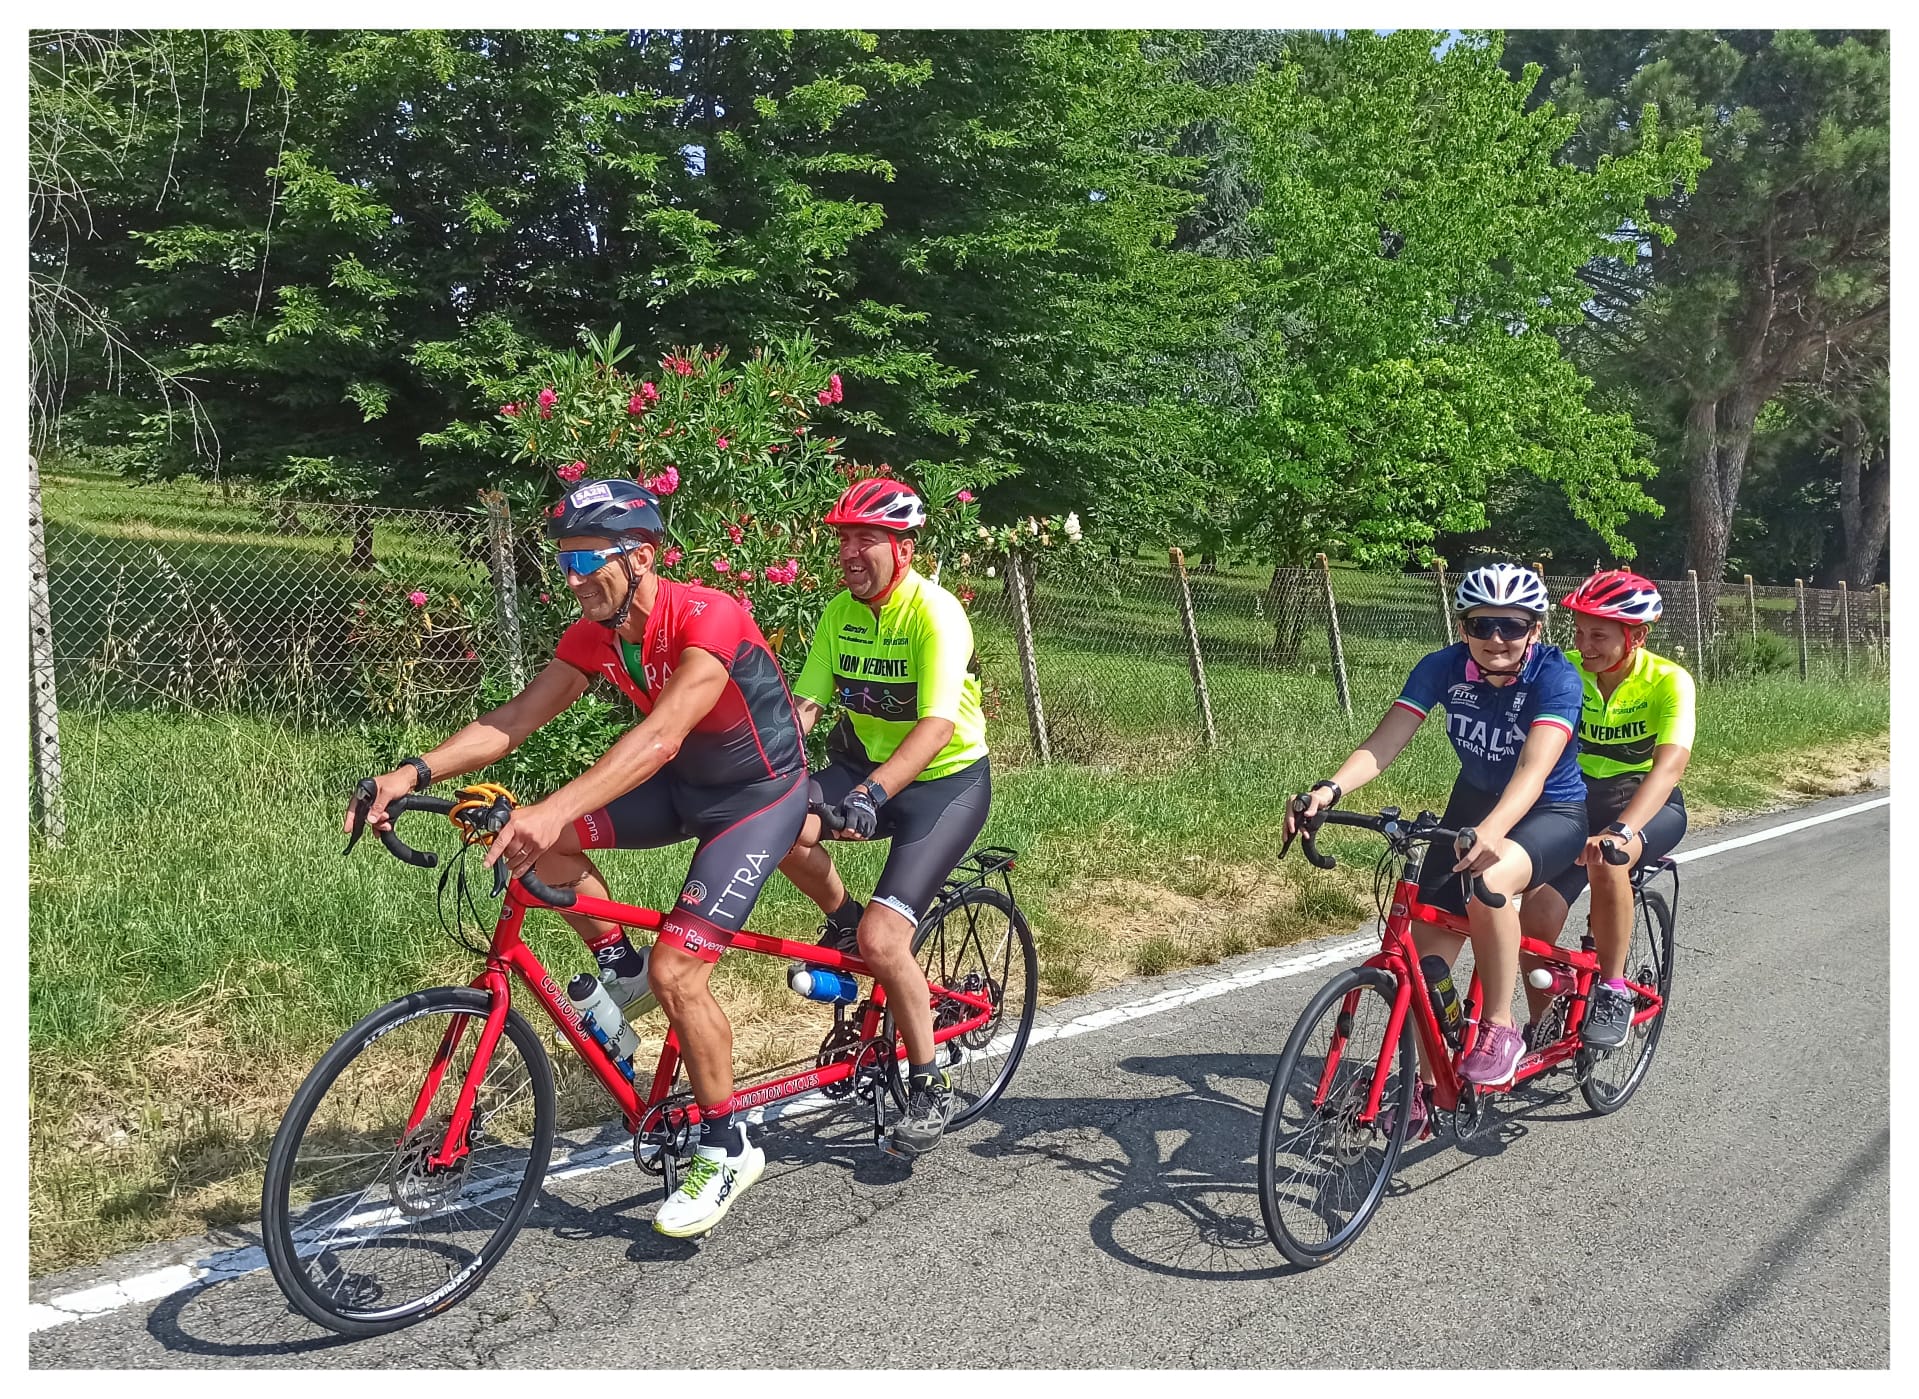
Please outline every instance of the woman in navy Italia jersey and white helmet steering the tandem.
[[[1458, 781], [1441, 819], [1451, 829], [1470, 825], [1480, 839], [1453, 865], [1428, 858], [1420, 898], [1464, 912], [1472, 925], [1485, 1019], [1460, 1077], [1480, 1084], [1510, 1080], [1526, 1048], [1512, 1023], [1520, 912], [1510, 896], [1552, 879], [1585, 848], [1585, 781], [1572, 743], [1579, 672], [1558, 647], [1541, 643], [1547, 606], [1545, 583], [1528, 568], [1487, 564], [1466, 574], [1453, 599], [1460, 641], [1420, 660], [1372, 735], [1307, 794], [1311, 819], [1386, 771], [1426, 716], [1445, 708]], [[1286, 833], [1291, 829], [1288, 816]], [[1506, 904], [1466, 900], [1472, 875], [1506, 894]], [[1428, 923], [1416, 925], [1412, 938], [1420, 956], [1439, 954], [1449, 963], [1462, 946]], [[1430, 1069], [1422, 1065], [1424, 1075]], [[1424, 1132], [1426, 1098], [1412, 1100], [1414, 1136]]]

